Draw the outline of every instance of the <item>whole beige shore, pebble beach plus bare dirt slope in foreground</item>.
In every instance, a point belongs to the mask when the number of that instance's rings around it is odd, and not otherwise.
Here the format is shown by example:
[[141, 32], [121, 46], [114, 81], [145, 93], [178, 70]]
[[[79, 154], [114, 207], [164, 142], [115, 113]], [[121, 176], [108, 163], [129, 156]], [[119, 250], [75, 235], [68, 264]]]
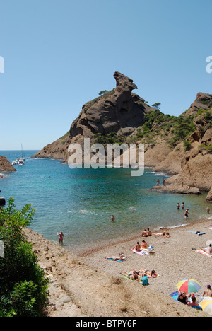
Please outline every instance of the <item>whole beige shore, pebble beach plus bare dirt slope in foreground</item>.
[[[110, 243], [92, 251], [73, 255], [59, 244], [26, 229], [40, 265], [50, 279], [49, 316], [210, 316], [174, 301], [170, 293], [184, 278], [201, 284], [199, 294], [211, 283], [212, 257], [196, 250], [212, 239], [212, 220], [169, 229], [170, 238], [146, 238], [154, 246], [155, 255], [131, 252], [137, 237]], [[211, 226], [212, 228], [212, 226]], [[198, 236], [188, 231], [206, 234]], [[126, 261], [106, 260], [106, 256], [124, 252]], [[131, 269], [155, 269], [160, 276], [149, 279], [148, 286], [122, 277]], [[212, 283], [211, 283], [212, 285]], [[197, 296], [197, 298], [199, 298]]]

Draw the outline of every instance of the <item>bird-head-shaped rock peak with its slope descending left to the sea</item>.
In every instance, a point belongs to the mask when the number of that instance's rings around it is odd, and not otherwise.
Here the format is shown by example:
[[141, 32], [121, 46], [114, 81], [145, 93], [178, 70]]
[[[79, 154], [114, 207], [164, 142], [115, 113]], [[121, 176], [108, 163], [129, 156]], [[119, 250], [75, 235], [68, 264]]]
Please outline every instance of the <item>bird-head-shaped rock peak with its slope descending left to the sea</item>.
[[124, 140], [142, 126], [146, 113], [155, 108], [146, 105], [143, 98], [131, 92], [137, 88], [132, 79], [117, 71], [114, 79], [116, 88], [83, 105], [78, 118], [71, 124], [70, 131], [33, 157], [61, 158], [66, 162], [71, 143], [83, 144], [84, 137], [95, 139], [95, 134], [107, 136], [111, 132], [117, 137], [124, 137]]

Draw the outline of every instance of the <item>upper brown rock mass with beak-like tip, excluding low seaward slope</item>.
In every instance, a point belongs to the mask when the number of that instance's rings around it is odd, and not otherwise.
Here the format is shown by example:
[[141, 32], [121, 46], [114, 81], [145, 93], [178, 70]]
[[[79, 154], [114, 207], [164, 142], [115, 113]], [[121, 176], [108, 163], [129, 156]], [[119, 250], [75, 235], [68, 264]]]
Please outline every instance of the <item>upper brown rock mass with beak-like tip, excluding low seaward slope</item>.
[[155, 110], [139, 95], [131, 93], [137, 88], [132, 79], [117, 71], [114, 79], [116, 88], [83, 105], [79, 117], [71, 124], [71, 137], [110, 132], [127, 136], [143, 125], [146, 112]]

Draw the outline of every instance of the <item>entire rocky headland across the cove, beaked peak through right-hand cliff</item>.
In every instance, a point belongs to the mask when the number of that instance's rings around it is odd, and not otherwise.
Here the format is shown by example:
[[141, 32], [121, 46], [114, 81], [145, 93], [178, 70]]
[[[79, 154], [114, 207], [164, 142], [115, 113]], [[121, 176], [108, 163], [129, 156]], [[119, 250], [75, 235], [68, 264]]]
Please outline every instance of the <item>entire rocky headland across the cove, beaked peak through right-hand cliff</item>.
[[[35, 158], [67, 162], [69, 144], [144, 143], [145, 165], [170, 175], [165, 185], [152, 190], [200, 194], [212, 201], [212, 94], [197, 93], [196, 100], [179, 117], [164, 115], [160, 104], [150, 107], [132, 93], [132, 79], [114, 73], [116, 87], [85, 105], [69, 132], [36, 153]], [[92, 153], [90, 153], [92, 155]]]

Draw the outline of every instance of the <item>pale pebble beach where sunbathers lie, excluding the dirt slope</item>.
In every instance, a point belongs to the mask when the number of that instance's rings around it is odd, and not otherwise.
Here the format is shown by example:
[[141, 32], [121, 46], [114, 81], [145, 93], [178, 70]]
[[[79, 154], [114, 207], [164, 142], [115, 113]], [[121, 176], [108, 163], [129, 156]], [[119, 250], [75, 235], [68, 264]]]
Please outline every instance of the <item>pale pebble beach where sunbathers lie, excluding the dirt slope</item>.
[[[97, 250], [84, 252], [80, 256], [89, 265], [115, 276], [130, 272], [132, 269], [150, 271], [154, 269], [159, 277], [150, 278], [148, 282], [151, 289], [162, 296], [169, 296], [176, 291], [175, 285], [184, 278], [199, 281], [201, 284], [199, 294], [203, 294], [206, 286], [212, 285], [212, 256], [208, 257], [196, 250], [205, 248], [207, 241], [212, 240], [212, 220], [162, 231], [167, 231], [170, 237], [143, 238], [138, 234], [136, 238], [108, 244]], [[205, 234], [199, 236], [193, 231]], [[139, 255], [131, 251], [137, 241], [141, 243], [142, 240], [153, 246], [155, 255]], [[126, 260], [123, 262], [105, 259], [105, 257], [119, 256], [119, 252], [124, 252]]]

